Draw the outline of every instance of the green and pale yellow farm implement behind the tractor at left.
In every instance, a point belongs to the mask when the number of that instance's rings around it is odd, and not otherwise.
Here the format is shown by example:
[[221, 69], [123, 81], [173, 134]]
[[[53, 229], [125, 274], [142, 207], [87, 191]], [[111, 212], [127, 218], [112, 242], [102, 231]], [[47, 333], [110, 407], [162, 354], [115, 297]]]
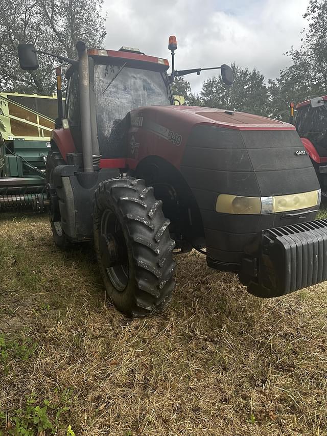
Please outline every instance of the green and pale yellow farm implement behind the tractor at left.
[[37, 208], [57, 96], [0, 93], [0, 212]]

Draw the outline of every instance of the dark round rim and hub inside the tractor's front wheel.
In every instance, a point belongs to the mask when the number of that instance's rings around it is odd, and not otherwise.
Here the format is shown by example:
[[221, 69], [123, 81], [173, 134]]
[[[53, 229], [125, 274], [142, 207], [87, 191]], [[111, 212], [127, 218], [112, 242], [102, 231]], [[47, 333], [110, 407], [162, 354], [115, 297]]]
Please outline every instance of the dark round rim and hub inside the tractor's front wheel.
[[[116, 215], [108, 209], [101, 217], [100, 239], [100, 255], [107, 276], [114, 288], [122, 292], [129, 278], [127, 247], [122, 226]], [[114, 265], [107, 266], [110, 263]]]

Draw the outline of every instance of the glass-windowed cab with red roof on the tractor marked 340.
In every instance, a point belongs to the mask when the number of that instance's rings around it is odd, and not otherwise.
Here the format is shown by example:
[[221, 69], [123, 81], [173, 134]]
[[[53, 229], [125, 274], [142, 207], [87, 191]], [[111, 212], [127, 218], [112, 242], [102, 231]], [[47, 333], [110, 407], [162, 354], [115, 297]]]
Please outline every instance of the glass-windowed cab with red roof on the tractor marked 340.
[[[129, 112], [144, 106], [174, 103], [166, 59], [146, 56], [138, 49], [88, 50], [92, 124], [103, 158], [126, 157]], [[74, 143], [81, 145], [78, 68], [70, 65], [65, 118]]]

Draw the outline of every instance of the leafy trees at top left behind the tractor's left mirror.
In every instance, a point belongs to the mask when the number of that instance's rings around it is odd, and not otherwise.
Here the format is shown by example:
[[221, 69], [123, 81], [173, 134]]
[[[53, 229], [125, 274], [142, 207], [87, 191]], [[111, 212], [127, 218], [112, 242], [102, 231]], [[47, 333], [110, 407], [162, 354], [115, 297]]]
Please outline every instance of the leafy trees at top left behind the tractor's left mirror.
[[0, 89], [47, 94], [54, 90], [53, 68], [42, 56], [42, 68], [23, 72], [17, 45], [31, 42], [37, 49], [75, 57], [78, 40], [102, 47], [105, 31], [102, 0], [3, 0], [0, 9]]

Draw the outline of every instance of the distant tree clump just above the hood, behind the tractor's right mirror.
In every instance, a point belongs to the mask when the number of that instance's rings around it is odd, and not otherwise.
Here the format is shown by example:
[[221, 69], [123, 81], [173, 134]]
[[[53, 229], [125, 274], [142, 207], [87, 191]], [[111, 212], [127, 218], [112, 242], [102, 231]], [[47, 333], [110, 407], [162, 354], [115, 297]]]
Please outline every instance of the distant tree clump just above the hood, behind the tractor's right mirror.
[[202, 106], [265, 114], [267, 87], [264, 76], [255, 68], [250, 71], [235, 63], [231, 68], [234, 74], [231, 86], [226, 86], [220, 76], [203, 82], [200, 92]]

